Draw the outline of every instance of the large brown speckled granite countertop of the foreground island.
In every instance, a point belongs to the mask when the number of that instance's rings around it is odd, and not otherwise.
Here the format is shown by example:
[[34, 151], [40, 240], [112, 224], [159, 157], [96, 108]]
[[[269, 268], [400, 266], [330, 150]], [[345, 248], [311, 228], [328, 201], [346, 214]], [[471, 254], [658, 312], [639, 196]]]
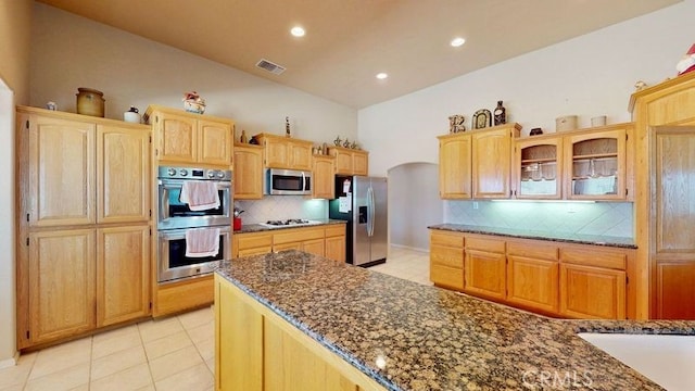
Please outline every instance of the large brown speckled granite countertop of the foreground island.
[[544, 389], [543, 371], [574, 376], [567, 389], [661, 390], [577, 332], [695, 335], [695, 321], [547, 318], [294, 250], [217, 273], [389, 390]]

